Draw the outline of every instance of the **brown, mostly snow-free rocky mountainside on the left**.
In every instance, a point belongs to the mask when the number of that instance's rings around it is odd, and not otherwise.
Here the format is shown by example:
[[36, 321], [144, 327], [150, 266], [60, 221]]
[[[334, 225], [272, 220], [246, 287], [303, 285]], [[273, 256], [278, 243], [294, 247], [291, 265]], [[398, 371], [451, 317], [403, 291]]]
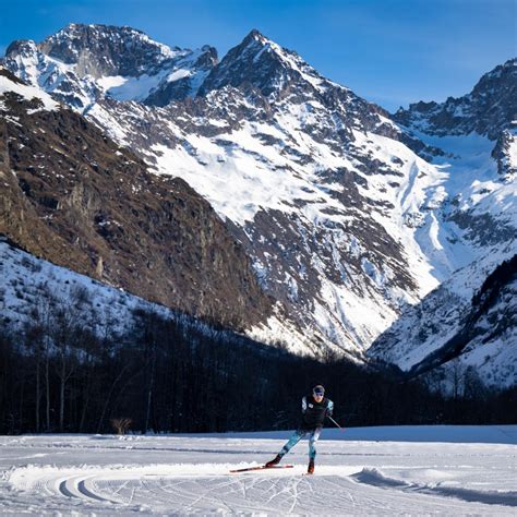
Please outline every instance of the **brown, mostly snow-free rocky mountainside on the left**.
[[184, 181], [149, 173], [10, 72], [0, 72], [0, 233], [57, 265], [218, 324], [243, 329], [270, 312], [242, 245]]

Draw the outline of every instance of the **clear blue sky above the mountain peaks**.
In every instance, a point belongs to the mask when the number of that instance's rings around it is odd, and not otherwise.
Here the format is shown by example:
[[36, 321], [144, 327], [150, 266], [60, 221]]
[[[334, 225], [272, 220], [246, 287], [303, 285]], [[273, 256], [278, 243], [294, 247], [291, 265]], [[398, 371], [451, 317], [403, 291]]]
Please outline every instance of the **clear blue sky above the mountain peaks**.
[[470, 92], [517, 55], [517, 0], [24, 0], [1, 11], [2, 56], [69, 23], [130, 25], [220, 57], [257, 28], [389, 110]]

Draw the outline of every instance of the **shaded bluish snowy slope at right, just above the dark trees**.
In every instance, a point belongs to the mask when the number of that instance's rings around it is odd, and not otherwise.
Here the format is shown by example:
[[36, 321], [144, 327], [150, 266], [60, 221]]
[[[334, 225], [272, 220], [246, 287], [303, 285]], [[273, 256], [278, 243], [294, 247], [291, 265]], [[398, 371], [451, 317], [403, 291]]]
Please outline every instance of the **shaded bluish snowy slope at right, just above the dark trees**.
[[[514, 240], [455, 272], [408, 308], [374, 341], [369, 356], [411, 375], [434, 371], [447, 390], [453, 377], [462, 378], [469, 368], [493, 387], [516, 384], [516, 256]], [[504, 279], [494, 280], [503, 269]]]

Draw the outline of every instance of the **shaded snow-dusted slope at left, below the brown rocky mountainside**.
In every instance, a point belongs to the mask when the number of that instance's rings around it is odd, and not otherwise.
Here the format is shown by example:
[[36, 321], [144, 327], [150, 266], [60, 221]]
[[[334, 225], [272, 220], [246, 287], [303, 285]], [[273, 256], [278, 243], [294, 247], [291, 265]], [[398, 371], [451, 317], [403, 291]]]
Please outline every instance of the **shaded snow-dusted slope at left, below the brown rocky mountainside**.
[[[151, 322], [153, 318], [169, 322], [182, 327], [184, 333], [194, 330], [223, 344], [250, 341], [220, 325], [215, 327], [184, 312], [131, 294], [120, 287], [57, 266], [21, 249], [5, 237], [0, 237], [0, 273], [4, 279], [0, 286], [0, 328], [13, 330], [15, 336], [38, 325], [46, 326], [44, 332], [51, 334], [52, 325], [62, 324], [59, 313], [69, 308], [73, 313], [72, 325], [115, 344], [137, 326], [140, 317]], [[272, 347], [255, 344], [255, 348], [257, 352], [264, 352], [267, 348], [278, 357], [278, 351]]]

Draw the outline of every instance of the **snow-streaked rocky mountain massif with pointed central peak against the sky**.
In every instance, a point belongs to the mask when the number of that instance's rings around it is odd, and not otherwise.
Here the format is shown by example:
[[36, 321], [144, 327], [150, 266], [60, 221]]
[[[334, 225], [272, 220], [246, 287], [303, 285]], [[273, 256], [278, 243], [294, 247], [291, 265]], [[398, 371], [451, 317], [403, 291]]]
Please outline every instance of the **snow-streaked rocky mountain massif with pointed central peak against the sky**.
[[515, 238], [515, 60], [469, 96], [392, 117], [256, 31], [220, 61], [127, 27], [46, 41], [13, 44], [5, 67], [212, 205], [273, 300], [248, 326], [263, 340], [364, 360]]

